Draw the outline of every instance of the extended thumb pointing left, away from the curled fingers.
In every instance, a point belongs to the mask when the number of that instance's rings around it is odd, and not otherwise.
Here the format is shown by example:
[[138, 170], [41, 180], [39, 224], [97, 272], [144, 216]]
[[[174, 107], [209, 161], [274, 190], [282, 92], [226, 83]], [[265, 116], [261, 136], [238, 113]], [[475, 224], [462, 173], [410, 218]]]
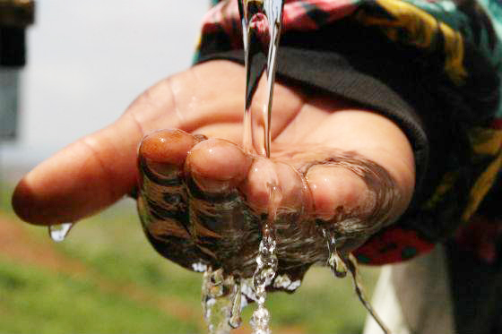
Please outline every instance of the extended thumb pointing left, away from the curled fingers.
[[177, 126], [169, 80], [137, 98], [117, 122], [82, 138], [35, 167], [17, 184], [13, 210], [37, 225], [75, 221], [133, 190], [143, 133]]

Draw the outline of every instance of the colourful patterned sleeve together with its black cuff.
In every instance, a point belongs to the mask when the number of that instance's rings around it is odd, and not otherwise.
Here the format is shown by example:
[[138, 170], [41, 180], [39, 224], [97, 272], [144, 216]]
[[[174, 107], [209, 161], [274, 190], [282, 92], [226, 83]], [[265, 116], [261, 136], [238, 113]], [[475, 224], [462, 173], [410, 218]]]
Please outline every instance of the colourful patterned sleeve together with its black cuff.
[[[278, 77], [372, 107], [402, 128], [415, 152], [411, 206], [359, 248], [360, 262], [408, 260], [461, 235], [477, 213], [501, 217], [502, 45], [489, 13], [502, 16], [502, 7], [285, 1]], [[215, 2], [195, 61], [242, 62], [241, 36], [237, 0]]]

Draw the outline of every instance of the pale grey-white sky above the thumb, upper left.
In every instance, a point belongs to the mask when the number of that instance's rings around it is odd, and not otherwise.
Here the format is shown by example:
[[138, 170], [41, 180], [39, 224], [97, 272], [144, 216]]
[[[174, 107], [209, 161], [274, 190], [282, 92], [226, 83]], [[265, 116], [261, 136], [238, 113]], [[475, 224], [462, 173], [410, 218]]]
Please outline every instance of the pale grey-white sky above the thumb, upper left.
[[41, 0], [28, 31], [20, 137], [30, 166], [111, 123], [144, 89], [189, 66], [208, 0]]

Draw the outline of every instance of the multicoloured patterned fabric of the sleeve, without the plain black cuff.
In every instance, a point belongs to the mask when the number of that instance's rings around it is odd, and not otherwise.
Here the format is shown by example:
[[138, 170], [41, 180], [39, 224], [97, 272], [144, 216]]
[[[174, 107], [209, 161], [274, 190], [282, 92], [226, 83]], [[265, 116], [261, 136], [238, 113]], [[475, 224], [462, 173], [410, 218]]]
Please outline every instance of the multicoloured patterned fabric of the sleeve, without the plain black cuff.
[[[214, 51], [214, 45], [218, 51], [242, 48], [237, 0], [217, 3], [204, 17], [199, 55]], [[484, 5], [502, 17], [498, 2]], [[445, 141], [458, 141], [458, 147], [446, 152], [449, 165], [435, 191], [420, 202], [420, 210], [360, 247], [359, 261], [384, 264], [427, 252], [472, 220], [493, 184], [500, 187], [502, 44], [496, 30], [502, 31], [502, 24], [495, 20], [494, 26], [489, 15], [472, 0], [285, 0], [283, 34], [315, 34], [342, 19], [361, 30], [379, 30], [394, 45], [414, 50], [416, 58], [403, 62], [421, 61], [424, 76], [434, 75], [437, 99], [446, 109], [454, 106], [441, 117], [459, 134]], [[438, 73], [431, 75], [431, 68]], [[419, 227], [439, 232], [431, 236]]]

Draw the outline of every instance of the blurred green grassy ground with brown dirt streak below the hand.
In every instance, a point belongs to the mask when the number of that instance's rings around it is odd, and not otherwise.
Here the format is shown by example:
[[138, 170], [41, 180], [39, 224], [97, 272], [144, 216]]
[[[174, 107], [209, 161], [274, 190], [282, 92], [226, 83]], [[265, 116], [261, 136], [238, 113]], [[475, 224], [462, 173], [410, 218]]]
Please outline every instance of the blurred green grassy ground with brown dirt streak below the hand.
[[[202, 275], [153, 251], [133, 201], [82, 220], [64, 243], [54, 244], [45, 228], [14, 218], [10, 188], [1, 189], [1, 217], [30, 236], [26, 249], [47, 244], [57, 259], [80, 269], [23, 261], [0, 250], [0, 333], [205, 332]], [[370, 293], [378, 270], [361, 271]], [[359, 333], [366, 317], [351, 280], [318, 267], [309, 270], [297, 293], [271, 294], [266, 305], [274, 332]], [[253, 310], [254, 305], [245, 309], [246, 323]]]

